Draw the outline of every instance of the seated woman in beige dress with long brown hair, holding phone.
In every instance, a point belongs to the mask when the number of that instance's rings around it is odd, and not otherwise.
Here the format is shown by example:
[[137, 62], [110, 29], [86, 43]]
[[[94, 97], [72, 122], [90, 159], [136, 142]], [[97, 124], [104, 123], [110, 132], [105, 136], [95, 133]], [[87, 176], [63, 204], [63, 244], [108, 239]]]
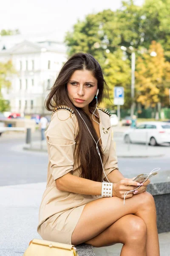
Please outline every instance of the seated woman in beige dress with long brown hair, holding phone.
[[[96, 109], [107, 89], [99, 63], [80, 52], [62, 67], [48, 95], [46, 108], [54, 112], [45, 132], [48, 177], [37, 230], [49, 241], [122, 243], [121, 256], [159, 256], [156, 207], [145, 191], [150, 181], [123, 204], [125, 192], [139, 184], [119, 172], [110, 115]], [[106, 198], [104, 191], [112, 193]]]

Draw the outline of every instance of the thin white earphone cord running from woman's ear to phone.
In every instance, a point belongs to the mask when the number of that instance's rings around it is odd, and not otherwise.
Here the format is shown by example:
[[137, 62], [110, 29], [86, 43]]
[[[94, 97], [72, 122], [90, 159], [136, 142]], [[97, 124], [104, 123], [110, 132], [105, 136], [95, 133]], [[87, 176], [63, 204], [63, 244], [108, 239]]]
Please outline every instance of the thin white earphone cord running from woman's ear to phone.
[[[97, 108], [97, 95], [99, 94], [99, 89], [97, 89], [97, 93], [96, 93], [96, 108]], [[95, 108], [95, 110], [94, 110], [94, 112], [96, 111], [96, 108]], [[77, 110], [77, 109], [76, 109]], [[79, 113], [79, 111], [77, 110], [77, 112]], [[93, 114], [92, 114], [92, 118], [93, 118], [93, 115], [94, 115], [94, 112], [93, 112]], [[80, 115], [80, 113], [79, 113], [79, 115]], [[82, 116], [80, 115], [80, 117], [82, 118]], [[94, 119], [94, 118], [93, 118]], [[83, 120], [83, 122], [85, 123], [85, 121], [84, 121], [84, 119], [82, 118], [82, 120]], [[96, 123], [98, 123], [96, 120], [94, 120]], [[99, 123], [98, 123], [99, 124]], [[86, 123], [85, 123], [85, 125], [86, 125]], [[100, 125], [100, 124], [99, 124]], [[102, 127], [102, 125], [100, 125], [101, 127]], [[86, 125], [86, 127], [88, 128], [88, 126]], [[88, 129], [88, 131], [89, 131], [89, 129]], [[90, 132], [90, 131], [89, 131]], [[90, 134], [91, 134], [91, 132], [90, 132]], [[103, 135], [103, 130], [102, 130], [102, 135]], [[91, 134], [91, 137], [93, 138], [93, 140], [94, 140], [94, 137], [93, 137], [93, 135]], [[102, 136], [100, 137], [100, 138], [102, 138]], [[100, 140], [100, 138], [99, 138], [99, 140]], [[97, 141], [97, 143], [99, 142], [99, 140]], [[96, 141], [94, 140], [94, 142], [96, 143]], [[99, 152], [99, 148], [98, 148], [98, 146], [97, 146], [97, 143], [96, 143], [96, 150], [97, 150], [97, 152], [98, 152], [98, 154], [99, 154], [99, 157], [100, 157], [100, 160], [101, 160], [101, 163], [102, 163], [102, 158], [101, 158], [101, 156], [100, 156], [100, 152]], [[104, 172], [104, 174], [105, 174], [105, 170], [104, 170], [104, 167], [103, 167], [103, 163], [102, 163], [102, 168], [103, 168], [103, 172]], [[155, 168], [155, 169], [159, 169], [160, 170], [160, 168]], [[153, 173], [153, 171], [155, 170], [155, 169], [153, 169], [151, 172], [150, 172], [150, 174], [152, 174]], [[154, 172], [156, 172], [156, 171], [154, 171]], [[149, 174], [149, 175], [150, 175]], [[147, 176], [147, 178], [149, 177], [149, 175]], [[105, 174], [105, 177], [106, 177], [106, 179], [108, 180], [108, 177], [106, 176], [106, 174]], [[147, 178], [142, 182], [142, 183], [144, 183], [146, 180], [147, 180]], [[103, 180], [104, 181], [104, 180]], [[108, 182], [110, 182], [109, 180], [108, 180]], [[142, 183], [141, 183], [141, 185], [142, 185]], [[140, 185], [140, 186], [141, 186]], [[139, 187], [140, 187], [139, 186]], [[137, 187], [136, 189], [139, 189], [139, 187]], [[130, 191], [128, 191], [128, 192], [125, 192], [125, 194], [124, 194], [124, 205], [125, 205], [125, 198], [126, 198], [126, 195], [129, 193], [129, 192], [133, 192], [133, 191], [135, 191], [136, 189], [134, 189], [134, 190], [130, 190]], [[102, 197], [102, 196], [101, 196]]]

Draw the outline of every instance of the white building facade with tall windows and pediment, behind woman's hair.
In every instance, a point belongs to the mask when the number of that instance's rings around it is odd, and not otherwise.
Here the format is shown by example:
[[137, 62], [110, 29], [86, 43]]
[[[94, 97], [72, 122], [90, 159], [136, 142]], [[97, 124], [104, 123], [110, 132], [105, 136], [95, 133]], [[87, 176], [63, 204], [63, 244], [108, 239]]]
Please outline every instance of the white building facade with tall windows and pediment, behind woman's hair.
[[24, 40], [7, 49], [6, 45], [5, 40], [1, 42], [0, 62], [11, 60], [16, 70], [8, 77], [10, 89], [2, 89], [3, 98], [10, 102], [10, 111], [21, 115], [48, 113], [45, 98], [67, 60], [65, 46], [50, 40]]

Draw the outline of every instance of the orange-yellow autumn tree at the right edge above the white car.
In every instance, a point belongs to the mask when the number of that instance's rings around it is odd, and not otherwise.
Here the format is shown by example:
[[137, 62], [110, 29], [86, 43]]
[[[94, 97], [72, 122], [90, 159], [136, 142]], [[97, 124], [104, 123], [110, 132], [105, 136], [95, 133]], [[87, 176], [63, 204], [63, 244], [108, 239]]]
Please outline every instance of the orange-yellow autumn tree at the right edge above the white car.
[[[156, 52], [153, 57], [150, 54]], [[136, 101], [145, 108], [155, 107], [158, 102], [169, 106], [170, 63], [165, 61], [161, 44], [153, 41], [148, 53], [136, 61]]]

